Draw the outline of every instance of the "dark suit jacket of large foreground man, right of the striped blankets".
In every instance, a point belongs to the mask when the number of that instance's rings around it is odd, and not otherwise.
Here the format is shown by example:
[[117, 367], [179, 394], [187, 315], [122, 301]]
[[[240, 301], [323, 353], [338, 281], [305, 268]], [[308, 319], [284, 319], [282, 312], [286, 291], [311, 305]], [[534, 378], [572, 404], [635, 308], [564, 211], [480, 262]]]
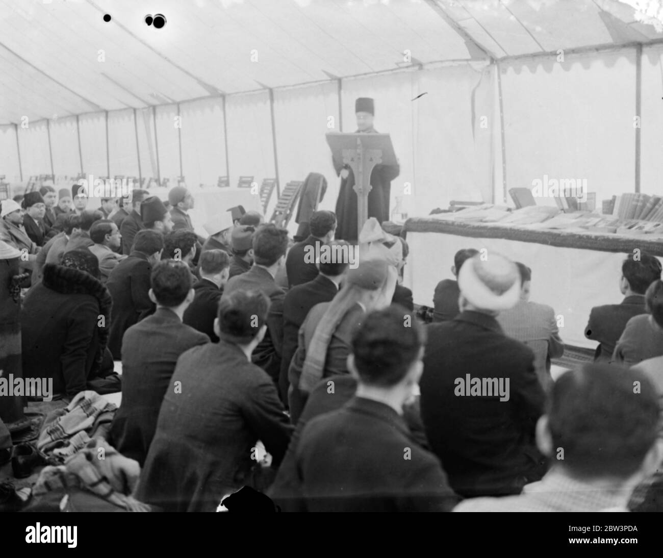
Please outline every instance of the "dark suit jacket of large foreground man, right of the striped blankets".
[[176, 382], [182, 391], [166, 390], [136, 497], [166, 511], [213, 512], [223, 496], [251, 486], [258, 440], [278, 466], [292, 426], [274, 383], [237, 345], [189, 349]]

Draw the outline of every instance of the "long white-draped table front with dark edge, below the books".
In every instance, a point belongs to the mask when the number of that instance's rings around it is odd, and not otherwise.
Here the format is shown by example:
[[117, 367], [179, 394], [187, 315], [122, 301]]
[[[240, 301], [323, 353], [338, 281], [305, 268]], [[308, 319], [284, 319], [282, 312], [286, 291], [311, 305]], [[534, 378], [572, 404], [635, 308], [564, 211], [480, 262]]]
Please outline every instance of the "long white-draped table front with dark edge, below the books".
[[[532, 268], [530, 300], [555, 310], [565, 343], [593, 349], [585, 326], [593, 306], [619, 304], [621, 264], [627, 254], [662, 259], [663, 236], [570, 233], [522, 225], [444, 221], [413, 217], [404, 225], [410, 247], [404, 284], [415, 304], [433, 306], [435, 286], [453, 279], [453, 255], [464, 248], [499, 252]], [[563, 319], [563, 325], [562, 325]]]

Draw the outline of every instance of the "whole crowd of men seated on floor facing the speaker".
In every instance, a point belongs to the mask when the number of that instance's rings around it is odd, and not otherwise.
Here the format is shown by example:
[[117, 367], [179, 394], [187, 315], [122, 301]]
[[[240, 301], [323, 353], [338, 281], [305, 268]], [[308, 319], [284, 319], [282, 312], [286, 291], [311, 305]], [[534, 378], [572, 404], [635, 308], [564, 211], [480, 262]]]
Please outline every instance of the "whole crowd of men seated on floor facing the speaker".
[[457, 252], [426, 324], [408, 245], [377, 222], [357, 260], [330, 259], [351, 253], [331, 211], [293, 244], [241, 207], [200, 237], [182, 186], [170, 209], [57, 194], [1, 207], [0, 248], [27, 254], [31, 284], [23, 376], [67, 401], [121, 386], [107, 440], [140, 465], [140, 502], [214, 511], [251, 486], [288, 511], [661, 509], [658, 258], [625, 258], [624, 300], [585, 328], [594, 362], [554, 380], [555, 311], [501, 254]]

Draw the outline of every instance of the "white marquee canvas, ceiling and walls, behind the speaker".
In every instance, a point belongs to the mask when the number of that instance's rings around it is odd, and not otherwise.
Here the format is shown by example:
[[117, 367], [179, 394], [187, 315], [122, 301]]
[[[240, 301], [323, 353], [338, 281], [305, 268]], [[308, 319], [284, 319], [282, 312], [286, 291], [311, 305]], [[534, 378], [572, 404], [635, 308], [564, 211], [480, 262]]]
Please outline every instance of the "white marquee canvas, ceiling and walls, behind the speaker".
[[599, 200], [660, 193], [657, 4], [0, 0], [0, 175], [211, 188], [321, 172], [333, 208], [325, 133], [354, 131], [370, 96], [410, 215], [503, 203], [544, 174], [586, 178]]

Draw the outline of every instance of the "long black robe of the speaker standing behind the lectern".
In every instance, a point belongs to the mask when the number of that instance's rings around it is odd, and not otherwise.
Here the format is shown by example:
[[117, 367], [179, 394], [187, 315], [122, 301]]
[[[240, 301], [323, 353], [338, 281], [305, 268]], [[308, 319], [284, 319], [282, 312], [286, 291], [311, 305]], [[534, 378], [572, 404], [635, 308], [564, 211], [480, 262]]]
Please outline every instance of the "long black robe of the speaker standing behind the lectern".
[[[356, 133], [359, 133], [357, 130]], [[366, 133], [377, 134], [375, 128], [369, 128]], [[332, 158], [336, 176], [340, 176], [343, 161]], [[355, 175], [349, 168], [347, 178], [341, 179], [341, 190], [336, 200], [336, 227], [337, 240], [356, 241], [359, 239], [357, 231], [357, 192], [354, 190]], [[389, 221], [389, 199], [391, 196], [391, 181], [400, 174], [400, 165], [378, 164], [371, 172], [371, 191], [369, 192], [369, 217], [375, 217], [379, 223]]]

